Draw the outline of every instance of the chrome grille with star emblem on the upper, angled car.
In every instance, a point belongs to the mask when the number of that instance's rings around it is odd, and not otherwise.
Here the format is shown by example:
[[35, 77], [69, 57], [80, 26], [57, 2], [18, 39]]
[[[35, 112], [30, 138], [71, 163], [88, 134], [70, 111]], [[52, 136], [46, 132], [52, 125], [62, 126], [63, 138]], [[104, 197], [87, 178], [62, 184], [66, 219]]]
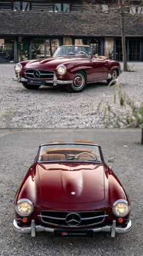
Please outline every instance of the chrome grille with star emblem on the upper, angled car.
[[[38, 71], [39, 77], [35, 77], [35, 71]], [[45, 69], [26, 69], [25, 76], [27, 78], [36, 79], [53, 79], [55, 72]]]

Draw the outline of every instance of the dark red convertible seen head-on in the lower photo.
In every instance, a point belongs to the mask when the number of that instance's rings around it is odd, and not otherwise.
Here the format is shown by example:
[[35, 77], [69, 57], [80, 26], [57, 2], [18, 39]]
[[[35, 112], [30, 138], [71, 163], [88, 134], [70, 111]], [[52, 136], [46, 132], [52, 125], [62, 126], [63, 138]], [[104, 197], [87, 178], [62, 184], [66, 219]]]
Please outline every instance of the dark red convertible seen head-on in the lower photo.
[[115, 237], [131, 230], [130, 199], [101, 147], [87, 141], [42, 144], [14, 205], [14, 229], [32, 236], [88, 238], [108, 232]]

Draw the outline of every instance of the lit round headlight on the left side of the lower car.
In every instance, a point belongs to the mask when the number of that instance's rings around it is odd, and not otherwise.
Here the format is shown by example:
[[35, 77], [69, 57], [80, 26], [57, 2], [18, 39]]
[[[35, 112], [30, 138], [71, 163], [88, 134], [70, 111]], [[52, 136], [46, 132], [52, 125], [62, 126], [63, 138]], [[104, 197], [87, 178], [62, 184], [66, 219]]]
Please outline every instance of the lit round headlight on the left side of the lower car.
[[28, 216], [33, 212], [33, 204], [28, 199], [20, 199], [15, 210], [20, 216]]

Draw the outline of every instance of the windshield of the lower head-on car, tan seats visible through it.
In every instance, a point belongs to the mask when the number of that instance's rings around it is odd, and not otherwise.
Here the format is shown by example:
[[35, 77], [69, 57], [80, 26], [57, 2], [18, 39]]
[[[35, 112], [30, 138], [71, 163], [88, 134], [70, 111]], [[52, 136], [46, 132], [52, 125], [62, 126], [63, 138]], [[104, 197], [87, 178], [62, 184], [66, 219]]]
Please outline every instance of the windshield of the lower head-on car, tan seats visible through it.
[[99, 146], [82, 143], [52, 143], [40, 147], [38, 162], [101, 162]]

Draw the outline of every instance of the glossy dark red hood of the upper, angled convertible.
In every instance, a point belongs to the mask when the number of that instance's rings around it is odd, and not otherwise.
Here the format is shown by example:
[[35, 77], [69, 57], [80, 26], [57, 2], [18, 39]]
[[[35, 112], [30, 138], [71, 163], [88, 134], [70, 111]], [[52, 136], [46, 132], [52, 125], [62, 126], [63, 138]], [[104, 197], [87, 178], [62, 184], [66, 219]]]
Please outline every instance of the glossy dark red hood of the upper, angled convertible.
[[48, 66], [58, 66], [60, 64], [66, 64], [70, 62], [79, 62], [79, 61], [87, 61], [87, 58], [74, 58], [74, 57], [59, 57], [59, 58], [50, 58], [50, 59], [41, 59], [41, 60], [31, 60], [27, 63], [25, 68], [47, 68]]

